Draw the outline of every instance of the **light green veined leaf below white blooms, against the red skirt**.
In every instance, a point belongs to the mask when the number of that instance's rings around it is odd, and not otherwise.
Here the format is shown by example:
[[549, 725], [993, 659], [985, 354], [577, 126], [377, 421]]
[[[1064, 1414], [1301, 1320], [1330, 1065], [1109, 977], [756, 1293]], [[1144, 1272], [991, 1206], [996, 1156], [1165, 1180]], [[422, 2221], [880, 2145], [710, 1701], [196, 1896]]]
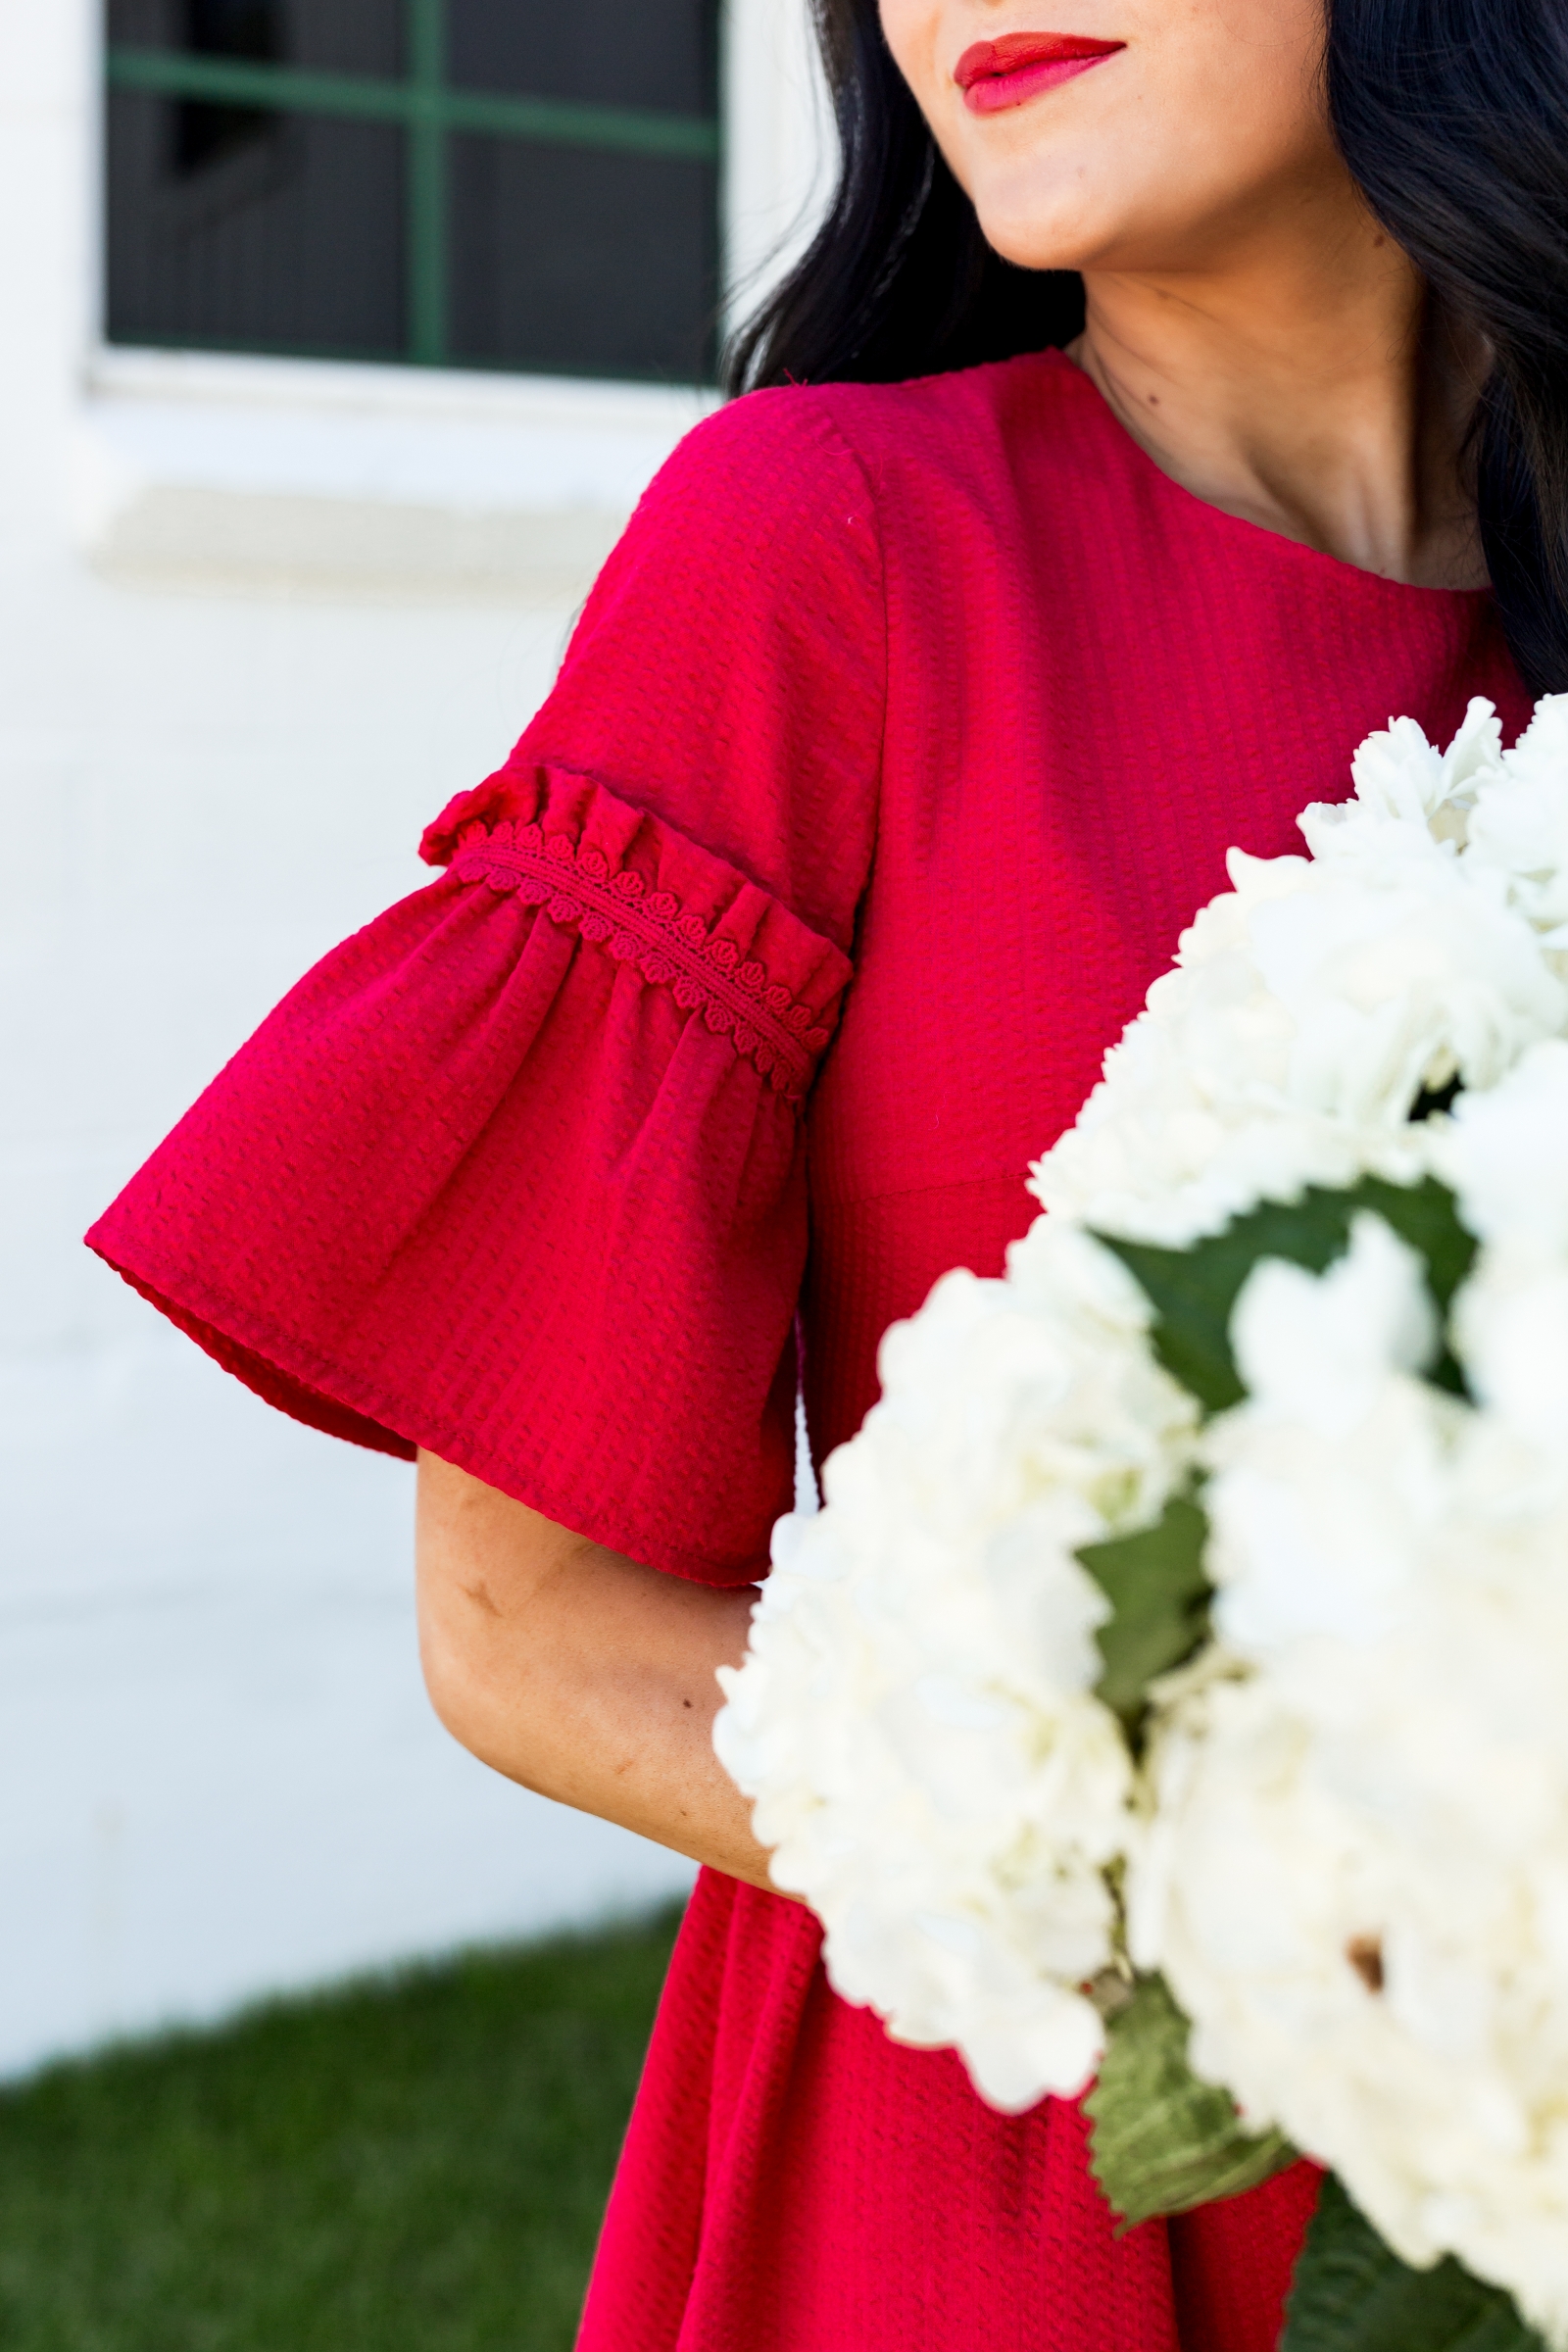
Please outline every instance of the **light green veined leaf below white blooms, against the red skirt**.
[[1190, 2034], [1161, 1976], [1143, 1978], [1107, 2023], [1100, 2079], [1084, 2105], [1095, 2180], [1128, 2227], [1237, 2197], [1295, 2161], [1279, 2131], [1246, 2131], [1229, 2093], [1197, 2079]]

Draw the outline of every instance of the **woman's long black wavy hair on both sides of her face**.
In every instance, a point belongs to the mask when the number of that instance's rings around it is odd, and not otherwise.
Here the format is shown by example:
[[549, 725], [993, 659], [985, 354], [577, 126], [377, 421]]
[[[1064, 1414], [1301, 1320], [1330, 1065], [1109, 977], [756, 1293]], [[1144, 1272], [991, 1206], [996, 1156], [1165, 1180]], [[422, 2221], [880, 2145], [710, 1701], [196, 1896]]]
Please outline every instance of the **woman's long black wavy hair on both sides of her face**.
[[[1070, 343], [1084, 287], [980, 235], [877, 21], [813, 0], [839, 179], [726, 383], [891, 383]], [[1568, 0], [1326, 0], [1326, 96], [1371, 209], [1493, 353], [1481, 541], [1533, 691], [1568, 689]]]

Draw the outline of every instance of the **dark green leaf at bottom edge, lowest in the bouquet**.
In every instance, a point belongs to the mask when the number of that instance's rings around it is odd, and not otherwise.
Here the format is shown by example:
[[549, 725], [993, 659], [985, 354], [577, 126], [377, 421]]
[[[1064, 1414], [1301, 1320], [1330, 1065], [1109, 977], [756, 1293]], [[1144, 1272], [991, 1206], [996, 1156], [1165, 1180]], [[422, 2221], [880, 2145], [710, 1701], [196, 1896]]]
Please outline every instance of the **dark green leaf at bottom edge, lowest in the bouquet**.
[[1328, 2178], [1295, 2265], [1279, 2352], [1547, 2352], [1502, 2286], [1460, 2263], [1410, 2270]]

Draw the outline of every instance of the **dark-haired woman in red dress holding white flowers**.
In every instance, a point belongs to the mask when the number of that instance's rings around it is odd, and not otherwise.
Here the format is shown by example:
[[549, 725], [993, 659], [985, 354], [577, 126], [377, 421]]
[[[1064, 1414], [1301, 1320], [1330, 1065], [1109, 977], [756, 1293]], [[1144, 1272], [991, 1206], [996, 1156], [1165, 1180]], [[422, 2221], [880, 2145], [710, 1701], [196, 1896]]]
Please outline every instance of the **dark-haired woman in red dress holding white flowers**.
[[830, 1992], [712, 1670], [797, 1362], [820, 1454], [886, 1324], [999, 1270], [1227, 844], [1389, 713], [1568, 684], [1561, 0], [1333, 0], [1326, 73], [1321, 0], [820, 16], [844, 176], [769, 388], [649, 492], [444, 880], [94, 1244], [418, 1449], [456, 1736], [708, 1865], [588, 2352], [1265, 2352], [1312, 2171], [1117, 2237], [1077, 2107]]

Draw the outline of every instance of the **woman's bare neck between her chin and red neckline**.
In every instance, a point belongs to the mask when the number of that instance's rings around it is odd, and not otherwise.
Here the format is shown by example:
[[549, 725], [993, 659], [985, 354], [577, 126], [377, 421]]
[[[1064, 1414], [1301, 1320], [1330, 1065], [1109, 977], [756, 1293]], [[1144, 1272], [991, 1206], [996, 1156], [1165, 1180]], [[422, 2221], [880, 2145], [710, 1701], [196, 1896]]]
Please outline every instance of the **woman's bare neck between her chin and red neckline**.
[[1194, 496], [1382, 579], [1486, 586], [1462, 480], [1486, 355], [1359, 200], [1206, 270], [1084, 285], [1072, 358]]

